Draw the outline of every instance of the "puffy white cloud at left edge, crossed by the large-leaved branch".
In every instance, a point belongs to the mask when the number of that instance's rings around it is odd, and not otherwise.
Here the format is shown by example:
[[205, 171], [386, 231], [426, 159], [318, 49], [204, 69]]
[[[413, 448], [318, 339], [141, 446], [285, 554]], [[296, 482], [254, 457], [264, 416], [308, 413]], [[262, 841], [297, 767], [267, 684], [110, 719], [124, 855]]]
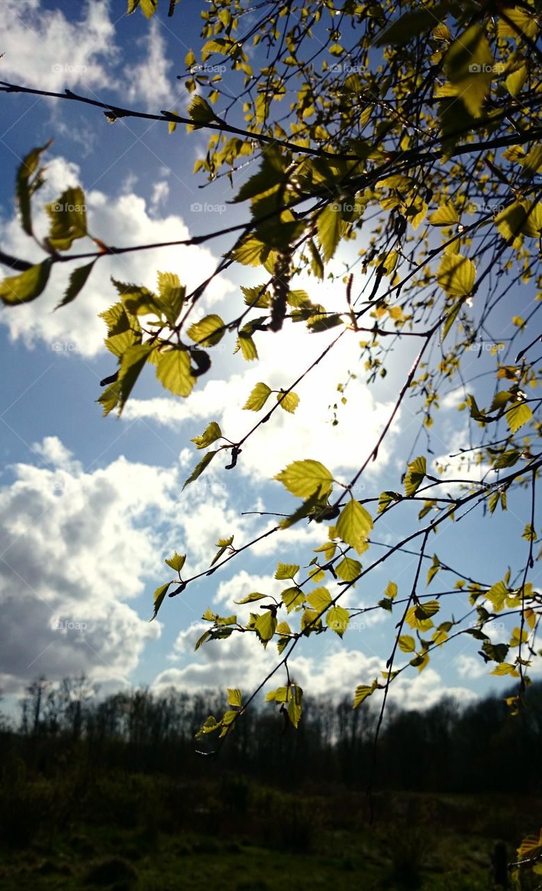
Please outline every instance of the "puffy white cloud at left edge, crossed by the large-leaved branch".
[[[55, 200], [62, 189], [77, 183], [85, 186], [81, 183], [77, 165], [62, 158], [48, 162], [47, 182], [35, 201], [35, 229], [38, 235], [45, 235], [48, 231], [48, 220], [41, 205]], [[147, 244], [190, 237], [181, 217], [158, 217], [158, 214], [150, 217], [145, 200], [134, 192], [109, 197], [97, 189], [91, 189], [85, 192], [85, 200], [89, 229], [106, 243]], [[127, 220], [129, 237], [126, 236]], [[43, 251], [22, 233], [16, 217], [5, 224], [0, 221], [0, 237], [7, 253], [28, 260], [43, 259]], [[91, 241], [84, 239], [74, 245], [73, 251], [79, 253], [93, 250], [93, 247]], [[122, 257], [104, 257], [94, 267], [77, 300], [53, 312], [68, 286], [69, 274], [77, 265], [83, 264], [57, 264], [47, 289], [36, 304], [0, 310], [0, 321], [7, 325], [12, 339], [22, 339], [28, 347], [43, 341], [47, 347], [61, 354], [77, 352], [82, 356], [95, 356], [104, 350], [103, 338], [106, 333], [104, 323], [97, 316], [114, 303], [117, 296], [110, 276], [120, 282], [137, 282], [155, 289], [156, 273], [160, 269], [179, 274], [190, 291], [202, 277], [213, 272], [215, 260], [208, 249], [200, 247], [162, 248]], [[206, 306], [221, 300], [231, 290], [232, 285], [226, 279], [214, 279], [206, 291]]]

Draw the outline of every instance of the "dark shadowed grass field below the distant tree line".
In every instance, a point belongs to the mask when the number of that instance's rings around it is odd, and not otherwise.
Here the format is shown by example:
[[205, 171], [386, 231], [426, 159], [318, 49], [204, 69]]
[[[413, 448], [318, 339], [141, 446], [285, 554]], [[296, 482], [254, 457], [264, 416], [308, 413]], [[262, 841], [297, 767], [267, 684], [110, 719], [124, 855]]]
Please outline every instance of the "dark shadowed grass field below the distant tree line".
[[234, 776], [202, 788], [115, 774], [71, 796], [42, 779], [10, 794], [4, 891], [489, 891], [495, 844], [513, 860], [542, 809], [521, 797], [386, 793], [370, 824], [362, 792], [293, 794]]

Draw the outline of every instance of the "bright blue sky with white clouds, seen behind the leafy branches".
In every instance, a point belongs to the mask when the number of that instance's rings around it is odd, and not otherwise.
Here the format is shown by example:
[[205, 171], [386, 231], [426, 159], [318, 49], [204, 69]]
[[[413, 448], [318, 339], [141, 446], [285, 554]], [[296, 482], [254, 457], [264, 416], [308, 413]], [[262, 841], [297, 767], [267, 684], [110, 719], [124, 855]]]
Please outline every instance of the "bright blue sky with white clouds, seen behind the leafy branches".
[[[164, 10], [149, 23], [139, 13], [127, 18], [125, 0], [0, 0], [0, 78], [59, 92], [69, 87], [141, 110], [182, 111], [187, 99], [176, 75], [188, 49], [198, 48], [202, 8], [199, 0], [190, 0], [173, 19], [166, 19]], [[42, 232], [38, 208], [58, 197], [66, 184], [83, 186], [89, 227], [115, 245], [182, 239], [243, 218], [242, 208], [227, 204], [232, 197], [227, 179], [198, 188], [205, 180], [191, 171], [205, 151], [200, 133], [186, 135], [184, 127], [177, 127], [168, 135], [164, 124], [133, 119], [110, 125], [100, 110], [35, 96], [0, 94], [0, 107], [0, 243], [8, 253], [29, 260], [41, 257], [40, 249], [20, 232], [13, 184], [20, 159], [51, 137], [47, 183], [35, 202]], [[115, 364], [102, 346], [105, 328], [97, 314], [115, 302], [109, 275], [153, 288], [160, 269], [179, 274], [193, 287], [212, 271], [229, 243], [211, 241], [206, 248], [167, 248], [103, 261], [77, 301], [56, 313], [53, 307], [69, 269], [55, 269], [36, 303], [0, 311], [0, 687], [7, 694], [17, 694], [38, 674], [56, 680], [81, 671], [104, 691], [127, 683], [157, 690], [175, 683], [189, 691], [229, 685], [249, 693], [277, 658], [274, 647], [264, 652], [254, 635], [247, 634], [194, 653], [202, 631], [199, 618], [207, 605], [228, 614], [233, 599], [251, 591], [279, 593], [283, 585], [272, 577], [278, 560], [306, 566], [311, 549], [326, 538], [324, 527], [302, 524], [289, 534], [272, 536], [250, 552], [242, 568], [240, 559], [232, 560], [220, 574], [190, 585], [174, 601], [166, 600], [159, 620], [149, 624], [152, 592], [170, 577], [164, 559], [175, 549], [187, 552], [190, 574], [200, 572], [212, 559], [219, 536], [234, 533], [239, 546], [263, 531], [269, 519], [240, 512], [285, 510], [283, 489], [271, 478], [289, 461], [317, 458], [348, 481], [374, 445], [413, 354], [409, 345], [401, 347], [387, 378], [368, 388], [360, 367], [359, 335], [352, 332], [340, 351], [332, 352], [298, 388], [301, 403], [294, 416], [275, 413], [249, 441], [236, 470], [224, 470], [225, 461], [214, 462], [182, 493], [182, 482], [200, 456], [190, 437], [201, 433], [209, 420], [219, 421], [227, 436], [245, 432], [255, 416], [241, 406], [255, 382], [288, 386], [329, 335], [300, 335], [291, 326], [280, 339], [267, 335], [258, 341], [257, 364], [232, 356], [233, 342], [222, 341], [214, 350], [212, 372], [189, 400], [169, 396], [148, 373], [122, 419], [103, 419], [95, 402], [99, 381]], [[344, 256], [354, 256], [359, 247], [349, 247]], [[336, 261], [337, 273], [342, 259]], [[213, 282], [202, 313], [233, 315], [242, 302], [241, 283], [261, 283], [260, 276], [247, 267], [232, 267]], [[310, 280], [298, 286], [328, 308], [342, 306], [340, 282]], [[510, 336], [510, 316], [521, 315], [532, 294], [525, 289], [512, 300], [514, 312], [510, 306], [502, 308], [498, 330], [491, 331], [494, 339]], [[467, 378], [488, 368], [487, 352], [467, 356]], [[348, 404], [340, 408], [339, 424], [333, 427], [330, 406], [348, 372], [358, 377], [349, 385]], [[482, 400], [489, 393], [484, 380], [474, 387]], [[457, 413], [461, 395], [450, 392], [435, 416], [430, 444], [435, 459], [443, 461], [466, 445], [465, 413]], [[419, 431], [419, 407], [412, 400], [401, 407], [358, 497], [400, 489], [400, 474]], [[425, 434], [417, 441], [416, 454], [432, 458]], [[453, 475], [453, 465], [447, 472]], [[473, 470], [473, 478], [479, 473]], [[397, 519], [376, 526], [377, 540], [390, 544], [411, 526], [408, 509], [395, 514]], [[482, 522], [480, 512], [473, 512], [435, 536], [430, 552], [438, 552], [465, 575], [498, 581], [510, 554], [518, 565], [525, 559], [526, 543], [520, 536], [528, 519], [527, 500], [510, 496], [506, 515]], [[507, 554], [499, 546], [504, 540], [510, 547]], [[375, 602], [390, 579], [399, 584], [400, 595], [408, 596], [415, 562], [405, 554], [390, 560], [349, 593], [347, 605]], [[453, 586], [445, 578], [441, 574], [433, 582], [434, 593]], [[452, 595], [449, 602], [456, 617], [468, 610], [465, 595]], [[247, 608], [239, 609], [239, 615], [247, 616]], [[308, 692], [352, 693], [356, 684], [370, 683], [384, 667], [397, 620], [395, 614], [390, 619], [378, 611], [364, 622], [359, 619], [344, 642], [331, 639], [330, 633], [303, 642], [293, 673]], [[496, 635], [503, 639], [498, 630]], [[396, 695], [403, 704], [419, 707], [446, 691], [467, 701], [489, 689], [504, 690], [505, 682], [491, 677], [480, 658], [473, 658], [475, 651], [471, 638], [452, 642], [424, 673], [412, 669], [405, 674]]]

